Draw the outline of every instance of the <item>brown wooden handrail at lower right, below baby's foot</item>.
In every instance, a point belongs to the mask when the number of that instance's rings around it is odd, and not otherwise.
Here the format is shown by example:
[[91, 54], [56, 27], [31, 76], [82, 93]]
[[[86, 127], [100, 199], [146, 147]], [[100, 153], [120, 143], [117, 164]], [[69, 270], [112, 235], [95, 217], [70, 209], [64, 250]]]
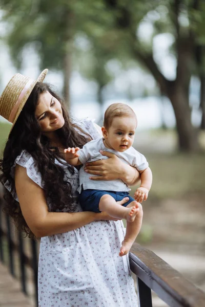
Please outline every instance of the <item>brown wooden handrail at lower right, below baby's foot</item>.
[[169, 306], [205, 306], [205, 293], [152, 251], [135, 243], [129, 258], [131, 271]]

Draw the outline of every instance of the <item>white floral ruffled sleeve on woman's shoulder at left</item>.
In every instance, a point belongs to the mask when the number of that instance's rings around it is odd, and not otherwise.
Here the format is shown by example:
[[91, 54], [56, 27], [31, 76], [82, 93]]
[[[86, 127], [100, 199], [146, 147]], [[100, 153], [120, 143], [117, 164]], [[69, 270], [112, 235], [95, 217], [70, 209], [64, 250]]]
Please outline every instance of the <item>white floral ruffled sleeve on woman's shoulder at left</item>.
[[[35, 182], [38, 186], [43, 188], [42, 176], [41, 176], [41, 174], [38, 170], [38, 167], [37, 167], [33, 157], [30, 155], [30, 153], [28, 153], [26, 150], [23, 150], [20, 153], [20, 155], [16, 157], [14, 165], [11, 168], [11, 176], [13, 178], [14, 178], [14, 171], [15, 171], [16, 164], [25, 167], [28, 177], [33, 182]], [[16, 201], [18, 201], [16, 191], [15, 191], [15, 189], [13, 191], [11, 191], [11, 185], [8, 181], [5, 183], [5, 188], [7, 188], [7, 190], [9, 190], [12, 193], [13, 198]]]

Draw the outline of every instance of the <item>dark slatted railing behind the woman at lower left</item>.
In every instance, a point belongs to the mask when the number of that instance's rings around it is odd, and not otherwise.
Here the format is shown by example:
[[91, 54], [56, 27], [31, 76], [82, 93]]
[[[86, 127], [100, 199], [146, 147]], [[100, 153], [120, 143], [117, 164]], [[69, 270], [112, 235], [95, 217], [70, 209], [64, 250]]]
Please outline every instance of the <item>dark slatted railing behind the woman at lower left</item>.
[[[3, 188], [0, 184], [0, 261], [8, 266], [13, 277], [20, 280], [22, 291], [26, 295], [29, 295], [29, 292], [31, 292], [28, 288], [32, 288], [35, 305], [38, 306], [37, 242], [33, 239], [24, 238], [21, 232], [15, 231], [10, 217], [2, 212], [3, 202]], [[31, 274], [28, 274], [28, 269]], [[31, 283], [32, 287], [29, 287]]]

